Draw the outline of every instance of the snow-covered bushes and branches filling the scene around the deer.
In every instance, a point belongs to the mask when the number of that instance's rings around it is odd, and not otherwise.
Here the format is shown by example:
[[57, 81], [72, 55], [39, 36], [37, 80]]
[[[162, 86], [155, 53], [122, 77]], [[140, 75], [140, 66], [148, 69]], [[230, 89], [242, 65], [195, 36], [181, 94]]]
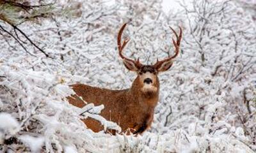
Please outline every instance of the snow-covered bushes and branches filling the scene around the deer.
[[[256, 1], [162, 3], [0, 0], [0, 152], [256, 152]], [[69, 85], [131, 87], [116, 44], [126, 22], [127, 57], [173, 55], [169, 26], [182, 28], [180, 53], [159, 74], [150, 129], [94, 133], [81, 117], [117, 124], [70, 105]]]

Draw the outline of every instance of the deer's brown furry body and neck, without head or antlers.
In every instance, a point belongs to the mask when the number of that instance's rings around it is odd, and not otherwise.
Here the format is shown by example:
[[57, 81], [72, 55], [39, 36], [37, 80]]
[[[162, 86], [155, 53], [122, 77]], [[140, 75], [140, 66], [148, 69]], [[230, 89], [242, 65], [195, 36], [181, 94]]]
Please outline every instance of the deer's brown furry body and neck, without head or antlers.
[[[156, 92], [142, 92], [143, 84], [138, 76], [131, 89], [114, 91], [109, 89], [100, 89], [89, 85], [75, 84], [72, 89], [77, 96], [83, 97], [84, 101], [93, 103], [94, 105], [104, 105], [104, 109], [100, 113], [107, 120], [116, 122], [122, 132], [131, 131], [132, 133], [143, 133], [150, 127], [153, 120], [154, 108], [157, 105], [159, 96], [159, 81], [156, 77], [156, 82], [153, 84], [157, 87]], [[83, 107], [84, 102], [77, 96], [68, 98], [70, 104]], [[74, 99], [75, 98], [75, 99]], [[94, 132], [99, 132], [103, 129], [99, 121], [94, 119], [84, 119], [86, 126]], [[115, 134], [115, 131], [111, 131]]]

